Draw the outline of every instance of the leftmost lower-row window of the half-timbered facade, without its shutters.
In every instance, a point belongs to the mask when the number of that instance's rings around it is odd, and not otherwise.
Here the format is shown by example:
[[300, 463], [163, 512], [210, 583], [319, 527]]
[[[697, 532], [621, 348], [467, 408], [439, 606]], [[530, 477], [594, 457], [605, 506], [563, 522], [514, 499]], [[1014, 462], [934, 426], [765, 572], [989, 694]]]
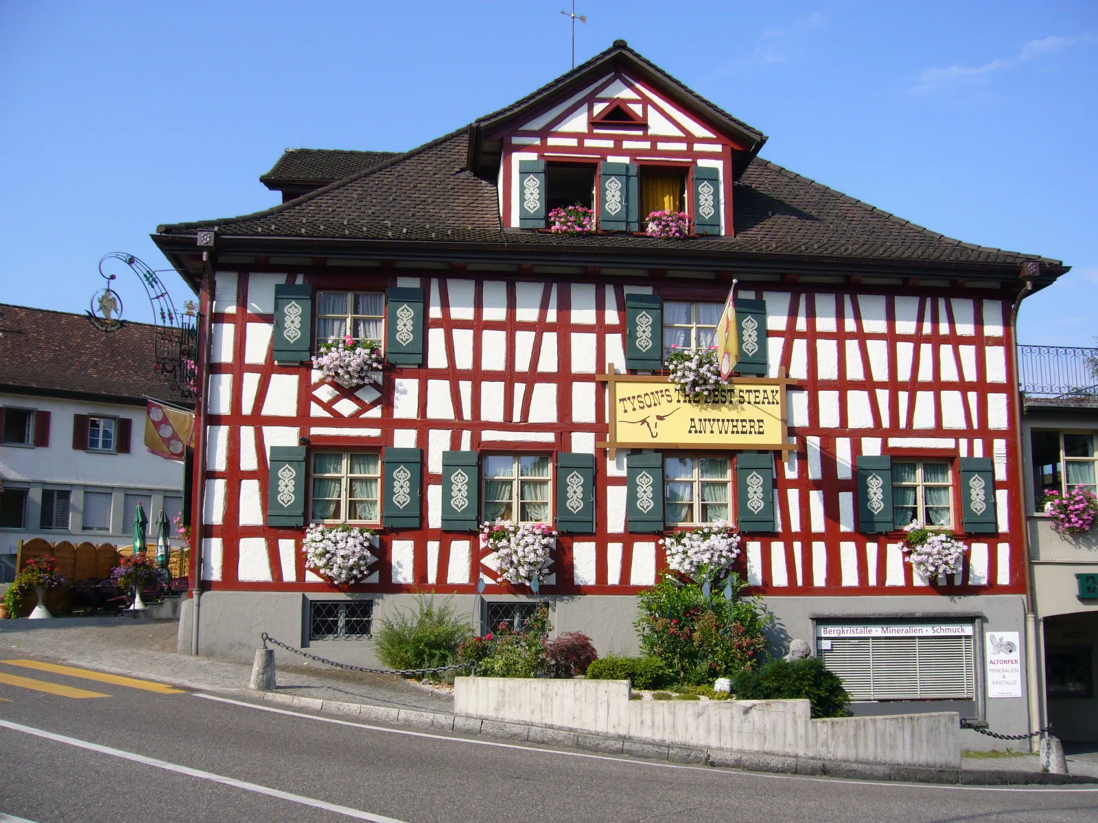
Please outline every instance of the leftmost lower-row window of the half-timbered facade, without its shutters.
[[380, 455], [377, 452], [315, 452], [312, 519], [325, 522], [379, 522]]

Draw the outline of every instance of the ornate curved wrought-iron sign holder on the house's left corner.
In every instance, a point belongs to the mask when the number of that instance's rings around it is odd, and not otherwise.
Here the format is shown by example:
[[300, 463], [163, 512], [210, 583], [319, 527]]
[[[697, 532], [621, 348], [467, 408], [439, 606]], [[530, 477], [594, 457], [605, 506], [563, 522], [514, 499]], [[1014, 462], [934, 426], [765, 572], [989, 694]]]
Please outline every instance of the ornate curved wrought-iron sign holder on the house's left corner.
[[117, 331], [125, 325], [122, 319], [122, 297], [111, 285], [116, 274], [104, 267], [111, 260], [121, 260], [137, 275], [153, 307], [154, 371], [168, 383], [172, 394], [181, 399], [193, 399], [199, 394], [195, 383], [198, 360], [198, 306], [193, 301], [183, 304], [183, 312], [176, 304], [157, 272], [145, 262], [122, 251], [104, 255], [99, 261], [99, 274], [107, 285], [91, 296], [88, 319], [100, 331]]

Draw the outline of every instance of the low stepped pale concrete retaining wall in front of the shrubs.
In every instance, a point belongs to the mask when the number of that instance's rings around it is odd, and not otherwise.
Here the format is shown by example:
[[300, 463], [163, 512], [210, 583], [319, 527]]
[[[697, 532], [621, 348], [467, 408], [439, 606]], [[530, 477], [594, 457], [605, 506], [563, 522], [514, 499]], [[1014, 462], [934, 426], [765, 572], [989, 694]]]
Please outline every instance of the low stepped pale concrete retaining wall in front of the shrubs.
[[956, 712], [813, 720], [807, 700], [631, 700], [627, 680], [459, 677], [459, 717], [668, 745], [959, 768]]

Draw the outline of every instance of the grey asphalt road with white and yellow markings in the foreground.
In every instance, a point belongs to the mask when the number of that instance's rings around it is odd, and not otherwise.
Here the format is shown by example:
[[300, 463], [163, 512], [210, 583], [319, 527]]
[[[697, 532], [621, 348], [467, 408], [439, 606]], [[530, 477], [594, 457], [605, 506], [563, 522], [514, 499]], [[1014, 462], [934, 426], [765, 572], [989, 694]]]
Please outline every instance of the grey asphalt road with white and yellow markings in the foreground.
[[[1098, 788], [653, 764], [336, 721], [239, 695], [147, 691], [4, 662], [13, 658], [0, 654], [0, 821], [1098, 820]], [[55, 687], [65, 694], [36, 690]]]

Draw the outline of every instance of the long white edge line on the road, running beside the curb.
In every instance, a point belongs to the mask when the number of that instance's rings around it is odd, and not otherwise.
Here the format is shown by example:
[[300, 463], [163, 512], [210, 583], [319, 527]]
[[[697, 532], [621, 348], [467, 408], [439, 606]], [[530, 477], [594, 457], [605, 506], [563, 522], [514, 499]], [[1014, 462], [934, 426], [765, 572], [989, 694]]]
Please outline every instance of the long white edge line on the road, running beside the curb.
[[[333, 723], [335, 725], [349, 725], [356, 729], [368, 729], [371, 732], [385, 732], [386, 734], [403, 734], [407, 737], [427, 737], [428, 740], [445, 740], [450, 743], [470, 743], [475, 746], [493, 746], [495, 748], [517, 748], [522, 752], [540, 752], [541, 754], [554, 754], [563, 755], [565, 757], [586, 757], [593, 760], [612, 760], [613, 763], [628, 763], [634, 766], [651, 766], [657, 768], [669, 768], [669, 769], [690, 769], [692, 771], [705, 771], [709, 775], [726, 775], [728, 777], [742, 777], [742, 778], [762, 778], [769, 780], [808, 780], [810, 782], [828, 782], [828, 783], [845, 783], [849, 786], [884, 786], [889, 789], [954, 789], [963, 791], [1055, 791], [1055, 792], [1098, 792], [1098, 785], [1094, 788], [1065, 788], [1063, 786], [955, 786], [952, 783], [905, 783], [898, 781], [882, 781], [882, 780], [855, 780], [855, 779], [841, 779], [841, 778], [825, 778], [825, 777], [808, 777], [806, 775], [770, 775], [764, 771], [730, 771], [725, 769], [716, 769], [712, 766], [684, 766], [676, 763], [657, 763], [652, 760], [634, 760], [628, 757], [612, 757], [609, 755], [594, 755], [585, 754], [583, 752], [561, 752], [558, 748], [540, 748], [538, 746], [520, 746], [515, 743], [496, 743], [495, 741], [486, 740], [470, 740], [469, 737], [451, 737], [445, 734], [432, 734], [429, 732], [410, 732], [405, 729], [389, 729], [383, 725], [370, 725], [369, 723], [356, 723], [351, 720], [339, 720], [338, 718], [325, 718], [318, 714], [305, 714], [300, 711], [289, 711], [287, 709], [276, 709], [273, 706], [259, 706], [257, 703], [249, 703], [244, 700], [231, 700], [227, 697], [217, 697], [216, 695], [203, 695], [194, 694], [194, 697], [201, 697], [204, 700], [216, 700], [219, 703], [232, 703], [233, 706], [243, 706], [247, 709], [258, 709], [259, 711], [269, 711], [272, 714], [288, 714], [291, 718], [303, 718], [305, 720], [318, 720], [322, 723]], [[2, 721], [0, 721], [2, 722]]]

